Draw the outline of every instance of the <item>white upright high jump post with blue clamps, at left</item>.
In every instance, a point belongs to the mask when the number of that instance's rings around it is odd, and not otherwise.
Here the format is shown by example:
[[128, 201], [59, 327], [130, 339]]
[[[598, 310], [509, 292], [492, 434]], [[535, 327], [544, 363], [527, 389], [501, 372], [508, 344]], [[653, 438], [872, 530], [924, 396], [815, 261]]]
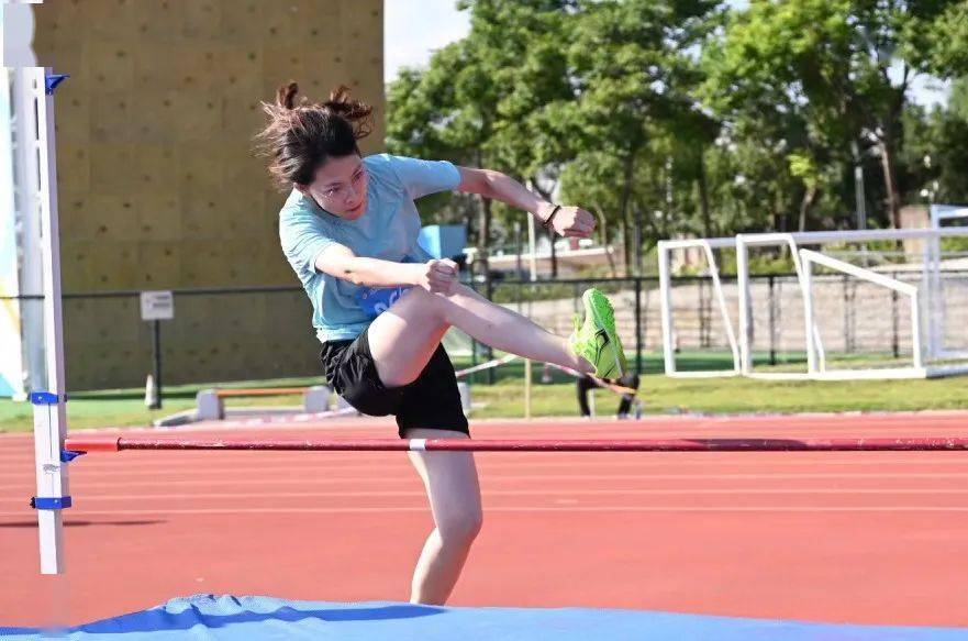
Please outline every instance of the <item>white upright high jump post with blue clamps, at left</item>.
[[[40, 215], [43, 235], [44, 340], [46, 344], [47, 388], [33, 390], [34, 456], [36, 460], [37, 509], [41, 543], [41, 573], [64, 572], [62, 510], [70, 507], [67, 463], [62, 456], [67, 436], [66, 387], [64, 377], [64, 333], [60, 309], [60, 247], [57, 220], [57, 154], [54, 142], [54, 87], [51, 68], [22, 71], [32, 91], [37, 113], [35, 153], [38, 172], [34, 188], [40, 208], [27, 212]], [[48, 86], [49, 84], [49, 86]]]

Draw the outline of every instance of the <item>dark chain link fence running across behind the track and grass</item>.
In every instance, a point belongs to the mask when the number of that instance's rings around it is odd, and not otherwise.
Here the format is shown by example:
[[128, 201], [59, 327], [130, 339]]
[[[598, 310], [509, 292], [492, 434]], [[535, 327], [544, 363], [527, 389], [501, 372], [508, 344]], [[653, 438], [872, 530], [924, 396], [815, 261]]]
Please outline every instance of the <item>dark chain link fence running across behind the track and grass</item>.
[[[919, 274], [889, 274], [919, 283]], [[839, 275], [817, 275], [817, 324], [828, 357], [911, 354], [906, 301], [883, 288]], [[730, 321], [737, 323], [736, 279], [722, 277]], [[968, 347], [968, 272], [943, 276], [945, 341]], [[615, 308], [619, 334], [630, 365], [646, 371], [646, 356], [661, 350], [658, 279], [653, 277], [497, 280], [475, 287], [549, 331], [567, 335], [581, 311], [588, 287], [605, 291]], [[754, 276], [753, 346], [757, 364], [804, 360], [803, 305], [793, 275]], [[175, 319], [160, 322], [160, 356], [166, 384], [260, 380], [316, 376], [319, 343], [310, 325], [312, 309], [299, 287], [248, 287], [175, 290]], [[38, 297], [8, 297], [20, 318], [37, 319]], [[35, 321], [34, 321], [35, 322]], [[680, 357], [721, 355], [731, 368], [725, 324], [710, 278], [672, 279], [674, 344]], [[22, 328], [36, 340], [37, 328]], [[110, 389], [144, 385], [153, 371], [153, 328], [141, 320], [140, 292], [69, 294], [64, 297], [64, 338], [68, 387]], [[448, 346], [470, 345], [450, 338]], [[468, 350], [472, 361], [487, 357], [483, 346]], [[37, 351], [27, 353], [35, 366]], [[658, 361], [649, 358], [649, 368]], [[688, 361], [688, 358], [687, 358]], [[685, 363], [685, 368], [689, 363]], [[43, 363], [40, 364], [43, 367]], [[702, 361], [709, 367], [709, 361]]]

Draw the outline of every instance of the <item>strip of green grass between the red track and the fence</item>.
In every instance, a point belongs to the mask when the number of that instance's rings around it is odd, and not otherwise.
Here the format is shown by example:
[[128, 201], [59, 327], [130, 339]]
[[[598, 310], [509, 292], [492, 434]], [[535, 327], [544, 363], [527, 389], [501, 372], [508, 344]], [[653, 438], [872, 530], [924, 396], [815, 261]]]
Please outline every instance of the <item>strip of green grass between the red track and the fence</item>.
[[[682, 369], [724, 366], [722, 356], [680, 354]], [[634, 360], [630, 360], [630, 363]], [[760, 368], [768, 366], [761, 364]], [[459, 368], [468, 358], [455, 358]], [[532, 415], [535, 417], [577, 416], [574, 380], [554, 372], [552, 383], [541, 383], [541, 366], [534, 367]], [[659, 355], [645, 358], [645, 375], [639, 397], [647, 413], [669, 412], [803, 412], [850, 410], [923, 410], [968, 409], [964, 378], [934, 380], [856, 380], [856, 382], [780, 382], [748, 378], [668, 378], [661, 371]], [[319, 378], [286, 378], [231, 383], [221, 387], [289, 387], [319, 383]], [[67, 404], [68, 426], [71, 430], [101, 427], [145, 426], [152, 420], [194, 407], [194, 395], [200, 388], [220, 385], [181, 385], [165, 388], [163, 410], [149, 411], [141, 389], [114, 389], [76, 393]], [[494, 372], [494, 384], [488, 375], [471, 378], [471, 398], [477, 418], [519, 418], [524, 416], [524, 365], [514, 362]], [[233, 398], [231, 407], [299, 405], [299, 397]], [[612, 415], [619, 399], [614, 394], [596, 393], [599, 415]], [[0, 400], [0, 431], [26, 432], [33, 429], [33, 413], [29, 404]]]

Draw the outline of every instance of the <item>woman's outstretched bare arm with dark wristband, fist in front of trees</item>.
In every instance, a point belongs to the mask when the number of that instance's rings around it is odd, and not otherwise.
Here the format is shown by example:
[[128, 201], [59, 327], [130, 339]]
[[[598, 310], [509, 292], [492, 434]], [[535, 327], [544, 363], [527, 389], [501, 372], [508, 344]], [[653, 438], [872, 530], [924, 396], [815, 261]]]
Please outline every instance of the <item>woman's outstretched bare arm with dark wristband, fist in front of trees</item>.
[[524, 185], [492, 169], [457, 167], [460, 185], [457, 191], [479, 194], [505, 202], [511, 207], [530, 211], [544, 223], [554, 212], [552, 228], [563, 236], [588, 237], [594, 230], [594, 217], [580, 207], [559, 207], [528, 191]]

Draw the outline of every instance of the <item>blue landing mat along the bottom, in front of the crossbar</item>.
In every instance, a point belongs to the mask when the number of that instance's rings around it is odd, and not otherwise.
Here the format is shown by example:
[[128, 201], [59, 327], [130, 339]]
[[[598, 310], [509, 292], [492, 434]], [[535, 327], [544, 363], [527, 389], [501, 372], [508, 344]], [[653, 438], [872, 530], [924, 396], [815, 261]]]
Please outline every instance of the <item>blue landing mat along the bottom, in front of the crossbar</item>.
[[[196, 595], [62, 631], [66, 639], [168, 641], [968, 641], [968, 628], [842, 626], [591, 608], [437, 608], [393, 603], [287, 601]], [[45, 638], [0, 628], [0, 639]]]

